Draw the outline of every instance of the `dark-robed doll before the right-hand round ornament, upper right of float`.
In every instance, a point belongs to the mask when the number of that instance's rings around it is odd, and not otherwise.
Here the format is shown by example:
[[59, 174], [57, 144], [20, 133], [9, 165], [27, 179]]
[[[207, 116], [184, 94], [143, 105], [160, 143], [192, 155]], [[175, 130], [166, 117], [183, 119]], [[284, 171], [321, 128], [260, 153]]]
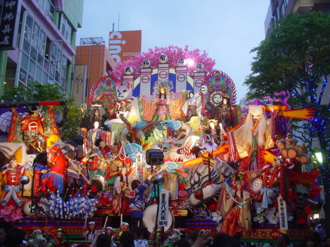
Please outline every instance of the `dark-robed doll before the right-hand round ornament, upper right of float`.
[[236, 112], [229, 104], [229, 95], [224, 95], [222, 104], [219, 106], [218, 123], [222, 124], [222, 127], [225, 131], [229, 130], [237, 124]]

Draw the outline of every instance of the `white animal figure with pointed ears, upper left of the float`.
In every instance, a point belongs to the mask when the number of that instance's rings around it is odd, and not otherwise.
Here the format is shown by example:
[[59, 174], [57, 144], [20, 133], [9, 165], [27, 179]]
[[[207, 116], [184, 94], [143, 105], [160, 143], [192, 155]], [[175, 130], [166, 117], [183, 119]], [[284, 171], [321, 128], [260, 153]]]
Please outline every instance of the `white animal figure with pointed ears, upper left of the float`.
[[106, 121], [105, 125], [107, 125], [108, 128], [110, 128], [111, 124], [124, 123], [119, 118], [120, 114], [122, 114], [127, 119], [131, 116], [136, 116], [138, 120], [141, 120], [137, 98], [132, 97], [133, 95], [132, 85], [129, 82], [126, 82], [124, 85], [118, 83], [116, 85], [116, 92], [118, 98], [118, 102], [116, 102], [117, 118]]

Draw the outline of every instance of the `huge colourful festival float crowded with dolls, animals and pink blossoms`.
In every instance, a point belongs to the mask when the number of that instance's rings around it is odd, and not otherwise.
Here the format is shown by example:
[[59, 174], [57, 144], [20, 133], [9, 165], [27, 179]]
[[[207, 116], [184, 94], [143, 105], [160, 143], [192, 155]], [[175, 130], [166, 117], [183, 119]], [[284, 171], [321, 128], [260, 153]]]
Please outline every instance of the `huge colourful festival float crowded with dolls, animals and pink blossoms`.
[[[303, 172], [307, 144], [292, 137], [290, 121], [312, 119], [313, 109], [291, 110], [287, 92], [236, 105], [235, 84], [214, 61], [170, 50], [96, 82], [73, 140], [61, 138], [65, 114], [60, 121], [53, 111], [63, 102], [1, 102], [1, 217], [57, 241], [90, 221], [140, 218], [161, 236], [173, 228], [254, 242], [307, 234], [318, 172]], [[134, 181], [149, 186], [132, 202]]]

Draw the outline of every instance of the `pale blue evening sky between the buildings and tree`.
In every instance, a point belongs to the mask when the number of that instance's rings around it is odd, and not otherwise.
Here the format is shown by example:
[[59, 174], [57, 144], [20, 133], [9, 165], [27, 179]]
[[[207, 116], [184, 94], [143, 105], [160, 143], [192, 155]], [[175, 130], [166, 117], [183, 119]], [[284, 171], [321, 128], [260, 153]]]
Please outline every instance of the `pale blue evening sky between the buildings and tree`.
[[206, 50], [215, 69], [235, 82], [237, 99], [244, 97], [243, 82], [251, 73], [250, 50], [265, 39], [269, 0], [85, 0], [80, 38], [103, 37], [108, 46], [112, 23], [118, 30], [142, 30], [142, 52], [169, 45]]

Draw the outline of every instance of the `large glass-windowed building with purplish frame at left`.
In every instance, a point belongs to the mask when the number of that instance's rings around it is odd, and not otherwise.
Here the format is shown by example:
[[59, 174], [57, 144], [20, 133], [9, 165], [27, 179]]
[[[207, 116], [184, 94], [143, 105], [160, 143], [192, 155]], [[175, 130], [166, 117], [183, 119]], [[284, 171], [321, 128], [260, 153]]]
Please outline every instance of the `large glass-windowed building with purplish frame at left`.
[[[30, 81], [60, 85], [72, 92], [76, 31], [84, 0], [17, 0], [20, 5], [17, 48], [0, 57], [5, 83], [25, 87]], [[0, 85], [1, 86], [1, 85]]]

